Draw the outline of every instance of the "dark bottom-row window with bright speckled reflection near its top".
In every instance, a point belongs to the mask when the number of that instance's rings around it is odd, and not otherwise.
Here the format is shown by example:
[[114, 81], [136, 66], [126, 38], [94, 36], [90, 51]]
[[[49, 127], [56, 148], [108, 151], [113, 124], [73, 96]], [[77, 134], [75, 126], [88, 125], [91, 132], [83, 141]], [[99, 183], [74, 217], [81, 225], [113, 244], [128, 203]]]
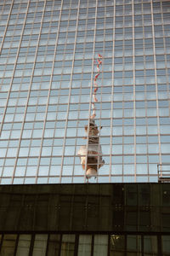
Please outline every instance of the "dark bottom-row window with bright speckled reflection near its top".
[[125, 250], [125, 237], [119, 235], [111, 235], [110, 256], [123, 256]]

